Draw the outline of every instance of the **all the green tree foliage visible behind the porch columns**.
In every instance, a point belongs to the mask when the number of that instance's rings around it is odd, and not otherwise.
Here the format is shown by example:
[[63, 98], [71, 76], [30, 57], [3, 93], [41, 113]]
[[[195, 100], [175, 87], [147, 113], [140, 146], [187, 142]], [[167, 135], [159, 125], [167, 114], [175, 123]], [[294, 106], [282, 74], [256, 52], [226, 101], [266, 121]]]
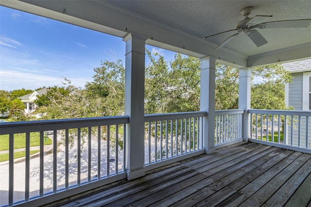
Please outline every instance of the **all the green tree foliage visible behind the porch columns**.
[[[200, 110], [200, 61], [176, 54], [170, 62], [146, 50], [150, 63], [145, 68], [145, 113], [173, 113]], [[121, 60], [104, 61], [94, 69], [93, 81], [86, 88], [52, 87], [36, 103], [46, 119], [67, 119], [124, 114], [125, 69]], [[239, 106], [239, 70], [216, 64], [215, 109]], [[258, 80], [260, 79], [260, 82]], [[286, 109], [284, 83], [290, 73], [281, 65], [252, 70], [251, 107]]]

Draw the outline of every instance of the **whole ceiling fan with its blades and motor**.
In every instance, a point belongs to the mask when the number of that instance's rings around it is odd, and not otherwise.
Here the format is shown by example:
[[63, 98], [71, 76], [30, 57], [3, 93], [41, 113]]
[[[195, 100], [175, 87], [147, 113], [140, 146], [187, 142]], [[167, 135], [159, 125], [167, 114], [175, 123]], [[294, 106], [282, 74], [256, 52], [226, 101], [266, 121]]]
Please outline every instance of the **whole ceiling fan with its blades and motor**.
[[214, 35], [209, 35], [209, 36], [203, 37], [202, 39], [215, 36], [215, 35], [220, 35], [220, 34], [227, 33], [227, 32], [231, 32], [231, 31], [237, 31], [238, 33], [229, 36], [227, 39], [225, 39], [225, 41], [223, 41], [220, 45], [218, 45], [217, 48], [214, 49], [214, 51], [219, 50], [220, 48], [224, 47], [226, 43], [228, 43], [230, 40], [232, 40], [234, 37], [238, 35], [247, 35], [255, 43], [257, 47], [260, 47], [264, 44], [267, 44], [268, 41], [256, 30], [256, 28], [268, 29], [268, 28], [308, 27], [311, 22], [311, 19], [263, 22], [271, 18], [272, 15], [271, 16], [258, 15], [258, 16], [250, 18], [248, 17], [248, 15], [250, 15], [252, 10], [253, 10], [252, 6], [243, 8], [241, 10], [241, 14], [245, 18], [236, 24], [235, 29], [217, 33]]

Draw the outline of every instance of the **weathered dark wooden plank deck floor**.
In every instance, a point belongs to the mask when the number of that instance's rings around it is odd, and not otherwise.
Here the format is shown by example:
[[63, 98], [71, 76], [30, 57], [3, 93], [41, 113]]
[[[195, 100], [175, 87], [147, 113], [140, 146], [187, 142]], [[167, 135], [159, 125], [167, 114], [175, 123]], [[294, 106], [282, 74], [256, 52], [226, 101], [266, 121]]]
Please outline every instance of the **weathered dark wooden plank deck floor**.
[[240, 143], [50, 206], [311, 206], [311, 155]]

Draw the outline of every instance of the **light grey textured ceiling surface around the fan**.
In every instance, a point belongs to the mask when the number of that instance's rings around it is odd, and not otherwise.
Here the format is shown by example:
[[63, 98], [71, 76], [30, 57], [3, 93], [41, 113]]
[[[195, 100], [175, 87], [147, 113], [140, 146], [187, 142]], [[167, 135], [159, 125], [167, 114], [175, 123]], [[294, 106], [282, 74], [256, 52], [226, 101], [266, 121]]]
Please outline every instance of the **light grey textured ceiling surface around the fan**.
[[[113, 0], [109, 3], [122, 8], [121, 12], [134, 12], [144, 21], [157, 22], [197, 38], [234, 29], [244, 18], [241, 9], [247, 6], [254, 8], [249, 17], [273, 15], [267, 21], [311, 18], [311, 0]], [[311, 42], [311, 26], [258, 31], [268, 44], [258, 48], [246, 35], [239, 35], [225, 48], [252, 56]], [[218, 45], [235, 33], [209, 37], [206, 41]]]

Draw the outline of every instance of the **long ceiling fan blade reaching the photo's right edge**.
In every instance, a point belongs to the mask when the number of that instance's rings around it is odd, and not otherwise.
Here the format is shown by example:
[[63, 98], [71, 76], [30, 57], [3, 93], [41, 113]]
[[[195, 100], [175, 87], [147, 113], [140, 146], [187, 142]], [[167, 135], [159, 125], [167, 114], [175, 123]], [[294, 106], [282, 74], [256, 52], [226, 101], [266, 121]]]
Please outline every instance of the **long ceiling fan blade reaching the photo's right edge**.
[[311, 19], [297, 19], [297, 20], [284, 20], [284, 21], [270, 21], [259, 24], [259, 29], [265, 28], [298, 28], [308, 27]]

